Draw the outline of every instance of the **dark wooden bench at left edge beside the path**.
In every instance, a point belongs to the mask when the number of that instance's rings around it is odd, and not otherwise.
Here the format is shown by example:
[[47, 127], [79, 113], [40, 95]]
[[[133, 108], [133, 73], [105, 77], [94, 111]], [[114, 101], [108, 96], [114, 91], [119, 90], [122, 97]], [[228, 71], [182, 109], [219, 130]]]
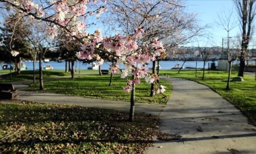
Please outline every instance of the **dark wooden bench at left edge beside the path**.
[[10, 83], [0, 83], [0, 100], [14, 99], [19, 96], [17, 90]]

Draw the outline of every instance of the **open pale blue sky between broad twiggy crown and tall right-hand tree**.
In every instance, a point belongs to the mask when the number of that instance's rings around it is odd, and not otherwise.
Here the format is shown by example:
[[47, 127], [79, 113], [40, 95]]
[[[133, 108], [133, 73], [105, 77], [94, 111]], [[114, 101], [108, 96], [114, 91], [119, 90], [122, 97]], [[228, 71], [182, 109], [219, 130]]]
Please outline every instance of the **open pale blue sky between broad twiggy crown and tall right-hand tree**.
[[[200, 46], [222, 46], [222, 38], [227, 37], [227, 32], [216, 22], [219, 21], [218, 14], [232, 11], [237, 17], [236, 7], [232, 0], [185, 0], [188, 11], [197, 13], [201, 25], [210, 25], [210, 35], [213, 37], [209, 42], [200, 42]], [[239, 25], [230, 31], [230, 36], [240, 33]], [[197, 44], [197, 43], [196, 43]], [[193, 45], [193, 44], [192, 44]]]

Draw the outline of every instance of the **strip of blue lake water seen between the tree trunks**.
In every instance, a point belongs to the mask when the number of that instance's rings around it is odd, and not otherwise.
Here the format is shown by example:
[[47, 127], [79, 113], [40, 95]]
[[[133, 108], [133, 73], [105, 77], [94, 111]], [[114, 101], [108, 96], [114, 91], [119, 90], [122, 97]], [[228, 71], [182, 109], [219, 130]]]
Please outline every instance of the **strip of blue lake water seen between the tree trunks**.
[[[33, 63], [32, 62], [24, 62], [26, 64], [26, 66], [28, 67], [28, 70], [33, 70]], [[209, 68], [211, 66], [212, 61], [206, 62], [205, 63], [205, 68]], [[53, 67], [54, 70], [65, 70], [65, 62], [42, 62], [42, 67], [44, 67], [44, 65], [49, 64]], [[104, 63], [102, 64], [102, 70], [108, 70], [109, 68], [109, 64], [110, 63]], [[179, 64], [179, 66], [181, 66], [183, 64], [183, 61], [161, 61], [160, 62], [160, 66], [161, 66], [161, 70], [170, 70], [171, 68], [174, 68], [174, 66], [176, 64]], [[218, 62], [215, 61], [216, 66], [218, 66]], [[239, 64], [239, 62], [235, 61], [233, 62], [233, 64]], [[250, 62], [250, 64], [255, 64], [255, 61]], [[87, 70], [88, 66], [90, 66], [90, 64], [83, 64], [82, 62], [77, 62], [75, 63], [75, 67], [77, 67], [77, 70], [80, 68], [81, 70]], [[183, 68], [186, 67], [191, 67], [191, 68], [195, 68], [196, 66], [196, 62], [195, 61], [189, 61], [189, 62], [185, 62]], [[148, 64], [147, 68], [151, 68], [152, 67], [152, 63]], [[122, 67], [121, 67], [122, 68]], [[203, 62], [202, 61], [198, 61], [197, 62], [197, 68], [203, 68]], [[39, 69], [38, 66], [38, 62], [36, 62], [36, 70]]]

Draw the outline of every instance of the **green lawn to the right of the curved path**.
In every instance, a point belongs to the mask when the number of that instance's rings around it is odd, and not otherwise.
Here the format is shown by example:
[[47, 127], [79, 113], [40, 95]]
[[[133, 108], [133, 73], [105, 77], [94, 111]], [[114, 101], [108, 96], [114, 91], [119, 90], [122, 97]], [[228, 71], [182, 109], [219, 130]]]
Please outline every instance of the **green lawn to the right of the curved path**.
[[[247, 114], [253, 123], [256, 123], [256, 81], [254, 76], [245, 75], [243, 82], [230, 82], [230, 90], [226, 90], [228, 72], [205, 70], [205, 80], [201, 79], [203, 74], [201, 70], [197, 72], [197, 77], [195, 71], [192, 70], [182, 70], [180, 74], [177, 71], [161, 70], [160, 73], [166, 74], [170, 78], [187, 78], [209, 86], [221, 96], [230, 100]], [[236, 76], [237, 72], [233, 72], [231, 78]]]

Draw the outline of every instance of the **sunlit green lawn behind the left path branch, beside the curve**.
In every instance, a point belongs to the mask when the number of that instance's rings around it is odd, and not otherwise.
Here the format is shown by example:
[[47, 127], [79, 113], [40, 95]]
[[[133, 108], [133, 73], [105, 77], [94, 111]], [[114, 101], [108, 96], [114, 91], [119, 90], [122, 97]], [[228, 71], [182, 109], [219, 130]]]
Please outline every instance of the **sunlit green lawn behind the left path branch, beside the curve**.
[[[44, 91], [56, 92], [60, 94], [69, 94], [73, 96], [84, 96], [87, 98], [100, 98], [110, 100], [129, 101], [131, 93], [123, 91], [126, 86], [126, 80], [119, 75], [113, 76], [112, 85], [109, 86], [110, 75], [86, 74], [73, 80], [69, 78], [59, 78], [58, 80], [45, 80]], [[167, 86], [165, 94], [170, 96], [170, 82], [161, 80], [160, 84]], [[151, 84], [141, 80], [141, 84], [135, 87], [135, 101], [146, 103], [166, 103], [168, 99], [163, 98], [162, 94], [156, 94], [150, 97]], [[31, 84], [30, 90], [38, 90], [38, 84]]]

